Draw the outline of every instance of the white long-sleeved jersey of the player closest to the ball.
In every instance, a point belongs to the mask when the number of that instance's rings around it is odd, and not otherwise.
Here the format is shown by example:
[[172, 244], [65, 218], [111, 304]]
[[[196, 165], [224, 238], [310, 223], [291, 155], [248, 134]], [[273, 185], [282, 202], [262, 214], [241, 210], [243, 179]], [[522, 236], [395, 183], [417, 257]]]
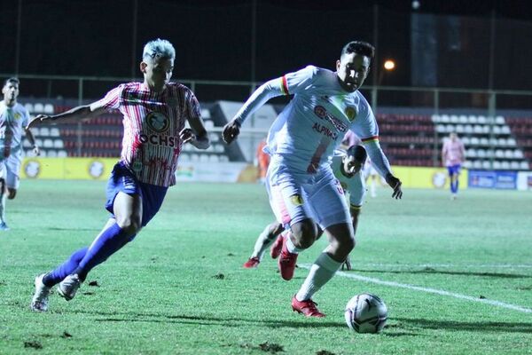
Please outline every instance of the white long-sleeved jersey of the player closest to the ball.
[[336, 73], [320, 67], [305, 67], [263, 84], [237, 114], [242, 122], [268, 99], [293, 94], [292, 101], [270, 127], [265, 151], [272, 162], [298, 173], [315, 174], [328, 167], [334, 150], [352, 130], [365, 144], [376, 146], [380, 168], [389, 164], [379, 148], [379, 128], [372, 108], [359, 91], [342, 89]]

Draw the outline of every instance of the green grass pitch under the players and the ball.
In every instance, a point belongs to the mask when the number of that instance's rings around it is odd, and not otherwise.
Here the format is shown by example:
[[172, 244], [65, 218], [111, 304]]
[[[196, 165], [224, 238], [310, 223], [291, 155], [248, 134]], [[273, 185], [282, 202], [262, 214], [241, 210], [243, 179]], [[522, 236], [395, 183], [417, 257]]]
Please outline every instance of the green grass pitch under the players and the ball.
[[[290, 300], [293, 280], [265, 256], [242, 264], [272, 215], [261, 185], [180, 184], [137, 239], [90, 273], [66, 302], [29, 310], [33, 280], [88, 245], [106, 222], [105, 185], [25, 180], [0, 233], [0, 354], [532, 353], [532, 193], [391, 190], [368, 198], [355, 270], [315, 296], [325, 319]], [[96, 281], [98, 286], [90, 286]], [[413, 288], [417, 287], [417, 288]], [[388, 306], [379, 335], [349, 331], [351, 296]]]

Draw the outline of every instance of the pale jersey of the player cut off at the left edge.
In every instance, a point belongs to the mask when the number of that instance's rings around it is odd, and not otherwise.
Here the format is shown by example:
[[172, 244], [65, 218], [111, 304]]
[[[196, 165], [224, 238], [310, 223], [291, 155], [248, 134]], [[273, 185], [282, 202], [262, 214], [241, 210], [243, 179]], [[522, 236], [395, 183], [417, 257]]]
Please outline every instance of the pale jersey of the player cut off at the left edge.
[[16, 103], [9, 107], [0, 101], [0, 159], [20, 152], [22, 130], [27, 126], [27, 109]]

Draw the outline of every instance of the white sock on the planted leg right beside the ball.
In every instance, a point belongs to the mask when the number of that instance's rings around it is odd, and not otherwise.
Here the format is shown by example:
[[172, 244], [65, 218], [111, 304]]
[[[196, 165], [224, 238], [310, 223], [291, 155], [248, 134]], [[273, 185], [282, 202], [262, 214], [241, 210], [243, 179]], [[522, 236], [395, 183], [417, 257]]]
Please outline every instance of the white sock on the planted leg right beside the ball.
[[298, 301], [312, 298], [320, 288], [332, 279], [332, 276], [340, 269], [340, 266], [341, 263], [332, 260], [332, 257], [328, 256], [327, 253], [321, 253], [310, 267], [309, 275], [307, 275], [307, 279], [301, 285], [295, 298]]

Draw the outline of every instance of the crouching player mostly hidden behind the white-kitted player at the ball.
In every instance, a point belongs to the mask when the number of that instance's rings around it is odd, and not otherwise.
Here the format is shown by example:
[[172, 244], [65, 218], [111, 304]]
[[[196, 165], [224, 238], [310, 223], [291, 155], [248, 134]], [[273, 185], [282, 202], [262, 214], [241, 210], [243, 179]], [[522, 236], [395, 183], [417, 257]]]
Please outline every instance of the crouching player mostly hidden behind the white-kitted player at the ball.
[[[366, 157], [367, 154], [364, 146], [360, 145], [349, 146], [345, 154], [334, 154], [332, 157], [332, 172], [334, 173], [334, 177], [340, 181], [343, 192], [346, 194], [346, 198], [348, 198], [349, 215], [351, 216], [351, 224], [353, 225], [354, 233], [356, 233], [358, 216], [360, 215], [360, 209], [364, 203], [365, 187], [361, 170], [364, 167]], [[274, 240], [275, 243], [270, 248], [270, 256], [276, 259], [279, 254], [281, 254], [283, 238], [286, 238], [286, 236], [281, 234], [283, 231], [283, 225], [278, 222], [274, 222], [264, 228], [264, 231], [262, 231], [255, 242], [253, 254], [243, 266], [246, 269], [257, 267], [262, 261], [264, 252], [270, 247], [270, 244], [272, 244]], [[319, 234], [321, 233], [323, 233], [323, 229], [320, 228]], [[345, 267], [345, 269], [351, 270], [349, 256], [341, 267], [342, 269]]]

